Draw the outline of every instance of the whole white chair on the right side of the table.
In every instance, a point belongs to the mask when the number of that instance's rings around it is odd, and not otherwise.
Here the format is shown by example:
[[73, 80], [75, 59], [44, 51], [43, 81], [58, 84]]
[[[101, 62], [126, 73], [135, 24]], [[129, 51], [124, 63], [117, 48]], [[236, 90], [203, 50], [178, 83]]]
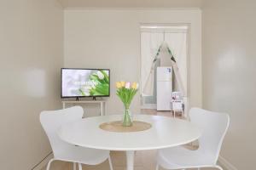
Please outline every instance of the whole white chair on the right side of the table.
[[203, 129], [197, 150], [182, 146], [158, 150], [157, 166], [166, 169], [216, 167], [224, 135], [230, 124], [230, 116], [224, 113], [193, 108], [189, 111], [191, 122]]

